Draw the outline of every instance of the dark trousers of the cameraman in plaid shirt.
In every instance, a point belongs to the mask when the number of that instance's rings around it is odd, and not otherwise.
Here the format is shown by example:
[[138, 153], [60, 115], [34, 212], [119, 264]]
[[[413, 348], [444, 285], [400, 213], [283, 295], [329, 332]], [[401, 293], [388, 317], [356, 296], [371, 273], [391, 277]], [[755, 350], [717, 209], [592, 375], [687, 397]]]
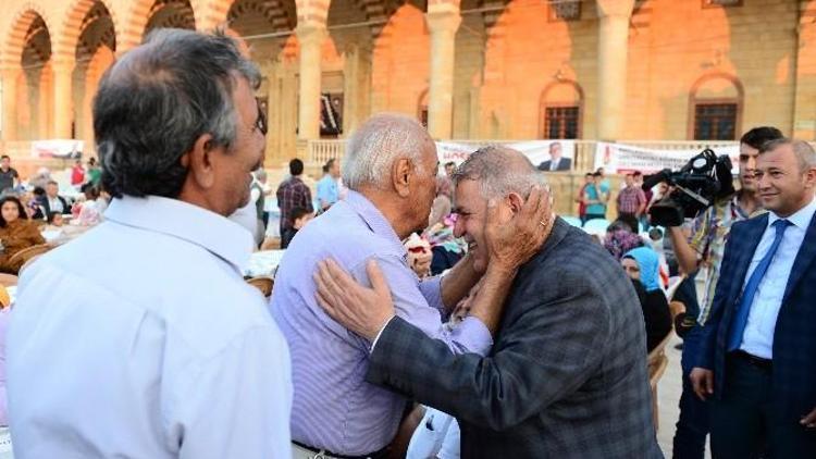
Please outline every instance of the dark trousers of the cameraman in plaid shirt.
[[703, 459], [705, 438], [708, 435], [708, 402], [694, 395], [689, 374], [696, 363], [700, 349], [701, 327], [691, 328], [683, 337], [683, 353], [680, 367], [683, 370], [683, 393], [680, 395], [680, 418], [675, 431], [675, 459]]

